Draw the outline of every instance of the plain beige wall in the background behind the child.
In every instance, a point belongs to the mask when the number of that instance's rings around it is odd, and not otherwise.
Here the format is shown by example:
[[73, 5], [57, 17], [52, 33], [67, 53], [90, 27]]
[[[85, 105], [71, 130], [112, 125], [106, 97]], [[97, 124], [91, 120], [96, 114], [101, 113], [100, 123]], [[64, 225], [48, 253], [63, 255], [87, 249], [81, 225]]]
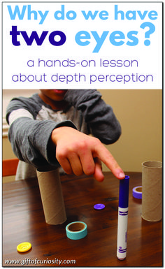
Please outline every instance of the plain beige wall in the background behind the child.
[[[122, 126], [120, 139], [107, 146], [122, 169], [141, 171], [143, 161], [162, 161], [162, 90], [99, 91]], [[3, 138], [3, 159], [14, 157], [8, 139]]]

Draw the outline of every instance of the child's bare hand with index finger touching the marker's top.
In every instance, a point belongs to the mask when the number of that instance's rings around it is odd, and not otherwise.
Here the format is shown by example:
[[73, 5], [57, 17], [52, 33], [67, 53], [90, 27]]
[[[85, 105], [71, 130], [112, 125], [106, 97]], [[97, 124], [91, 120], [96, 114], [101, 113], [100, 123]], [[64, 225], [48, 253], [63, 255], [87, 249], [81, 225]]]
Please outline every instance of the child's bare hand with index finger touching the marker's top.
[[56, 158], [67, 174], [94, 175], [103, 181], [101, 161], [118, 179], [125, 177], [122, 168], [99, 139], [87, 136], [71, 127], [59, 127], [52, 131], [52, 142], [56, 145]]

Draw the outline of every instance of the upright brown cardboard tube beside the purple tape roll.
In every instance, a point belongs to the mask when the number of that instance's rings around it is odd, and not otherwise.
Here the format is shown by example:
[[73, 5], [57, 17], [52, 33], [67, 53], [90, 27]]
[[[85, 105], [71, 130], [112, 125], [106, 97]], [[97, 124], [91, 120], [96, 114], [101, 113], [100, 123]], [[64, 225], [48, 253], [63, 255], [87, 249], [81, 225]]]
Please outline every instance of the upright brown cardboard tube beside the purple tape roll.
[[142, 217], [147, 221], [162, 219], [162, 162], [142, 163]]

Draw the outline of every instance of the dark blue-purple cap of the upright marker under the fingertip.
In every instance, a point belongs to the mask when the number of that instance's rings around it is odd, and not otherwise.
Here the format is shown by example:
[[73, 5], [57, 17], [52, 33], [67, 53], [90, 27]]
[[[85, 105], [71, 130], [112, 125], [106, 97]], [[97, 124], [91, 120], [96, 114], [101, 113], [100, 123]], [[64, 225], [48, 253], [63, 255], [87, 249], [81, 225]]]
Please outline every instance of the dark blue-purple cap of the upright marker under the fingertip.
[[129, 175], [124, 180], [120, 180], [119, 207], [128, 208], [129, 206]]

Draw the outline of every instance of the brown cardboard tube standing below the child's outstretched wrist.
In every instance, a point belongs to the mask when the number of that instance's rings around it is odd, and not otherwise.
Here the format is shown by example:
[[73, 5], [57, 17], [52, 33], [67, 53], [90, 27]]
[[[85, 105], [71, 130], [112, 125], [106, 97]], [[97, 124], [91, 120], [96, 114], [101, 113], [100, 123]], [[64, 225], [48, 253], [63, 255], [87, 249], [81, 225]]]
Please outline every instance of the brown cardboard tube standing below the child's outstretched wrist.
[[37, 170], [37, 177], [46, 223], [53, 225], [64, 223], [66, 211], [59, 170], [48, 172]]

